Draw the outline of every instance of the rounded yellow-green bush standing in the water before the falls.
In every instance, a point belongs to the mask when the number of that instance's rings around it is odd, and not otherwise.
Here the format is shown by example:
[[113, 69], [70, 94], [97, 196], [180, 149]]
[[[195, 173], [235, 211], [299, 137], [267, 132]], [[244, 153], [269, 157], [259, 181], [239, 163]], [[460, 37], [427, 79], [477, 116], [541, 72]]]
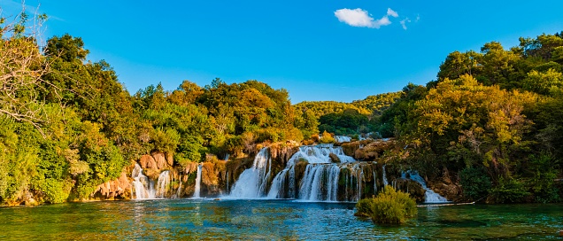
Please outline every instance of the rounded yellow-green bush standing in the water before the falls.
[[375, 198], [359, 200], [356, 208], [356, 215], [368, 216], [375, 223], [405, 223], [417, 214], [414, 199], [390, 186], [386, 186]]

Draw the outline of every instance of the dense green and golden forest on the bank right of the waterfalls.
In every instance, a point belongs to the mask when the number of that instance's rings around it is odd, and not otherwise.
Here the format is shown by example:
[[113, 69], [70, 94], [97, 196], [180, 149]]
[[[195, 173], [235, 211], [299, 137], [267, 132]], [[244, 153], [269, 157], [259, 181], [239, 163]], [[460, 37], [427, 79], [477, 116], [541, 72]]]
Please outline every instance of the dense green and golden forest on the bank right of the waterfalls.
[[436, 81], [407, 85], [382, 113], [381, 135], [406, 146], [391, 156], [430, 180], [459, 183], [469, 200], [560, 201], [562, 37], [449, 54]]

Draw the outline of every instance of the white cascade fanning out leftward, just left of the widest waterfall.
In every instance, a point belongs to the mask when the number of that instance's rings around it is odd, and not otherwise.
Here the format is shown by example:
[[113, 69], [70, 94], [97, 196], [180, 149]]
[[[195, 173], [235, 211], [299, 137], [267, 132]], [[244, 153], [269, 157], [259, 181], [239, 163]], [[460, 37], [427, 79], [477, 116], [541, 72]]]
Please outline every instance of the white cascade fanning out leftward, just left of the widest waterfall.
[[262, 148], [254, 158], [252, 167], [244, 170], [233, 185], [229, 198], [263, 198], [271, 169], [272, 159], [268, 148]]

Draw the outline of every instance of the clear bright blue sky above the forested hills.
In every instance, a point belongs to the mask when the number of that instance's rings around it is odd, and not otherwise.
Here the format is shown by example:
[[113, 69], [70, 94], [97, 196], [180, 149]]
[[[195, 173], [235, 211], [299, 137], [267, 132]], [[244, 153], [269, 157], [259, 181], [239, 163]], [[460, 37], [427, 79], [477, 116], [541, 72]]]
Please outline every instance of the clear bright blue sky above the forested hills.
[[[80, 36], [132, 94], [258, 80], [293, 103], [350, 102], [436, 79], [451, 51], [563, 31], [563, 1], [27, 0], [45, 36]], [[0, 0], [4, 16], [20, 1]], [[408, 18], [408, 19], [407, 19]], [[405, 26], [402, 25], [402, 22]]]

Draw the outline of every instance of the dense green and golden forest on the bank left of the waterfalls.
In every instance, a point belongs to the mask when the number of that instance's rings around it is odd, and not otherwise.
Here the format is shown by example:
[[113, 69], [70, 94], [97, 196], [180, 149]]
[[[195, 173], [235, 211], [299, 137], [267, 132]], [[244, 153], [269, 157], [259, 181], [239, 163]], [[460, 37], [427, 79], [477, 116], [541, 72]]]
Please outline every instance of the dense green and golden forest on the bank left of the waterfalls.
[[88, 198], [154, 151], [182, 165], [318, 132], [285, 89], [257, 81], [130, 95], [108, 63], [86, 60], [80, 37], [54, 36], [42, 48], [21, 18], [0, 32], [0, 203]]

